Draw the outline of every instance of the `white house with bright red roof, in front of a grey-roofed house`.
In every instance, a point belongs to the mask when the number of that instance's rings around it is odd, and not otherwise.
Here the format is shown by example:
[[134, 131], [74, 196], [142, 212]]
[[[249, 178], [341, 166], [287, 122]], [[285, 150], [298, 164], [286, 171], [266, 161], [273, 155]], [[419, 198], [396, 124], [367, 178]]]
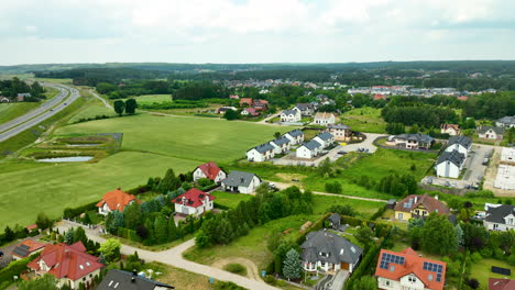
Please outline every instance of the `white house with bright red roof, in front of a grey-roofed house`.
[[199, 189], [191, 188], [171, 202], [175, 203], [175, 212], [182, 214], [195, 214], [199, 215], [207, 211], [212, 210], [212, 201], [216, 197], [206, 193]]

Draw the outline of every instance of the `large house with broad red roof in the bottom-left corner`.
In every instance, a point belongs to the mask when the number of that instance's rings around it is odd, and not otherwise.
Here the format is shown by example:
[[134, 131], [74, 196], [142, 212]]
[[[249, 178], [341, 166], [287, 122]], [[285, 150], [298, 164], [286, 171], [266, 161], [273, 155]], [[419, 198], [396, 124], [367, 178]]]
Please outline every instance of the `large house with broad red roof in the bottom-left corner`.
[[100, 275], [103, 264], [99, 258], [86, 253], [83, 242], [72, 245], [59, 243], [46, 245], [41, 255], [29, 263], [26, 267], [36, 277], [50, 274], [57, 280], [57, 287], [68, 286], [73, 290], [83, 283], [89, 289], [95, 277]]

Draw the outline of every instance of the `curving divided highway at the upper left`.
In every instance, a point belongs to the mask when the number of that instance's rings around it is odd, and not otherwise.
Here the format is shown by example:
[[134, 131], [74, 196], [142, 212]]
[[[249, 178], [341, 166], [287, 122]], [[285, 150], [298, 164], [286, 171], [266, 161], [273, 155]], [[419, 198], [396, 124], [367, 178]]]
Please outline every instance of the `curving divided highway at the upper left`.
[[14, 120], [0, 125], [0, 142], [3, 142], [21, 132], [33, 127], [48, 118], [63, 111], [67, 105], [80, 97], [78, 90], [64, 85], [54, 85], [44, 82], [45, 87], [52, 87], [59, 90], [59, 93], [52, 100], [43, 103], [40, 108], [28, 112]]

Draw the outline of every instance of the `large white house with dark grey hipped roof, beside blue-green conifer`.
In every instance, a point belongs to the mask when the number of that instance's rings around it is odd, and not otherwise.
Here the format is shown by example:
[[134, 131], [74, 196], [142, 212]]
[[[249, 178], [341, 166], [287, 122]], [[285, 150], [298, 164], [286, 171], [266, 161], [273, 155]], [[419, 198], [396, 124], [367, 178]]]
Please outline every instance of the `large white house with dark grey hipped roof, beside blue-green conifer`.
[[303, 268], [314, 272], [338, 271], [340, 269], [352, 272], [361, 260], [363, 249], [352, 244], [347, 238], [331, 232], [320, 230], [306, 235], [306, 241], [300, 245], [303, 253]]

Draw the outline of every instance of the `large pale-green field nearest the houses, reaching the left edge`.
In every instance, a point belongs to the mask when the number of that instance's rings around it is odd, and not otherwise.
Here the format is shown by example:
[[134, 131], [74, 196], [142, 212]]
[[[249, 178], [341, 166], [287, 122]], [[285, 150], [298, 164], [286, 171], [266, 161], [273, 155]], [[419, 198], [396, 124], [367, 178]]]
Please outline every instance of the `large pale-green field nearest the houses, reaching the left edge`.
[[[58, 217], [67, 207], [78, 207], [99, 200], [114, 188], [131, 189], [145, 183], [151, 176], [164, 176], [166, 169], [186, 172], [198, 166], [198, 161], [168, 156], [122, 152], [99, 163], [55, 164], [42, 166], [37, 163], [1, 164], [0, 228], [6, 225], [28, 225], [37, 213]], [[14, 168], [10, 172], [10, 167]]]

